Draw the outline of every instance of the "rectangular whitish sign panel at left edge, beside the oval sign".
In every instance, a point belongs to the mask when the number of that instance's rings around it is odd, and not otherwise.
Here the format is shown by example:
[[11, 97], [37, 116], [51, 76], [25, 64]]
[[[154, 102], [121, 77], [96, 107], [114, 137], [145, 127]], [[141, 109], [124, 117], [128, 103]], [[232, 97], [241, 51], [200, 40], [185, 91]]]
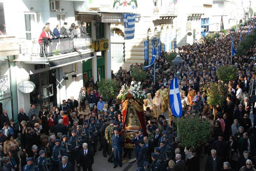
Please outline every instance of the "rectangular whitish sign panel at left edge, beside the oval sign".
[[11, 97], [10, 79], [8, 75], [0, 76], [0, 100]]

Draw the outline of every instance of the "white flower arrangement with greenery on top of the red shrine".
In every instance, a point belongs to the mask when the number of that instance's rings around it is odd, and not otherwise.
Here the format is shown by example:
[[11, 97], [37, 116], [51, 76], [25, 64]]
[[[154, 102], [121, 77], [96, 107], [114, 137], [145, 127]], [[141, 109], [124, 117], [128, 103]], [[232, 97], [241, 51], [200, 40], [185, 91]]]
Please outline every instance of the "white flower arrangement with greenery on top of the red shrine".
[[140, 82], [138, 83], [138, 85], [132, 86], [133, 84], [133, 81], [131, 82], [130, 87], [124, 84], [117, 98], [121, 100], [125, 100], [128, 96], [132, 96], [136, 100], [143, 100], [144, 98], [147, 98], [146, 92], [140, 89]]

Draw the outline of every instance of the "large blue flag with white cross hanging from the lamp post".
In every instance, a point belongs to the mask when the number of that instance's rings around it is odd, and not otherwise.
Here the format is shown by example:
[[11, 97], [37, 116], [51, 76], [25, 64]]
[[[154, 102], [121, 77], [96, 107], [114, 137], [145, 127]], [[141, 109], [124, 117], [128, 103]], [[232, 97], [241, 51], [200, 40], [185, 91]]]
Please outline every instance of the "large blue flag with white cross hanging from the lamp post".
[[172, 79], [170, 85], [170, 108], [174, 116], [182, 116], [182, 105], [177, 77], [174, 77], [174, 79]]

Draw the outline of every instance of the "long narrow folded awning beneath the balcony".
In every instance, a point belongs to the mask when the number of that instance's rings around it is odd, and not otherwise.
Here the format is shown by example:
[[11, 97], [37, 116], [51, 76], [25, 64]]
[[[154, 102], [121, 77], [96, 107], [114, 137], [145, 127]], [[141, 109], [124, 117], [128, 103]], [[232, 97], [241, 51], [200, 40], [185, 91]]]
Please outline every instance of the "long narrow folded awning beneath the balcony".
[[88, 53], [88, 54], [85, 54], [85, 55], [81, 55], [81, 56], [77, 56], [77, 57], [71, 57], [71, 58], [68, 58], [68, 59], [59, 59], [57, 61], [50, 61], [49, 66], [50, 66], [50, 69], [56, 69], [58, 67], [63, 67], [63, 66], [66, 66], [66, 65], [70, 65], [72, 63], [85, 61], [85, 60], [91, 59], [92, 57], [94, 57], [93, 53]]

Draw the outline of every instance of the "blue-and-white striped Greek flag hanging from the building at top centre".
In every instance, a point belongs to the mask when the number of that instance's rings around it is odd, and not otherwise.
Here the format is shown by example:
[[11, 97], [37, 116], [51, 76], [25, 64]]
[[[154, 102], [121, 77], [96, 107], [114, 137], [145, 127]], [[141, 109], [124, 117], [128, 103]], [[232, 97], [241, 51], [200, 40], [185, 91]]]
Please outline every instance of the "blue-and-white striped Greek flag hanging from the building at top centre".
[[133, 39], [135, 31], [135, 14], [124, 14], [124, 39]]

